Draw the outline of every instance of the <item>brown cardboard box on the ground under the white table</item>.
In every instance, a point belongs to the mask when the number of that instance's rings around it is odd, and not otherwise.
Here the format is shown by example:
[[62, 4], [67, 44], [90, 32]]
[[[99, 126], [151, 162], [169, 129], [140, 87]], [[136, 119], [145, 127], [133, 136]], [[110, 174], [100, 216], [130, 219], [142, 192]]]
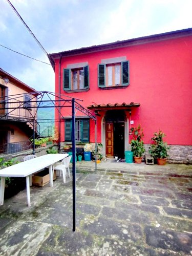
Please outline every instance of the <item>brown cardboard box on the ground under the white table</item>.
[[[53, 180], [56, 179], [56, 170], [53, 173]], [[40, 172], [32, 175], [32, 185], [45, 186], [49, 183], [49, 169], [41, 170]]]

